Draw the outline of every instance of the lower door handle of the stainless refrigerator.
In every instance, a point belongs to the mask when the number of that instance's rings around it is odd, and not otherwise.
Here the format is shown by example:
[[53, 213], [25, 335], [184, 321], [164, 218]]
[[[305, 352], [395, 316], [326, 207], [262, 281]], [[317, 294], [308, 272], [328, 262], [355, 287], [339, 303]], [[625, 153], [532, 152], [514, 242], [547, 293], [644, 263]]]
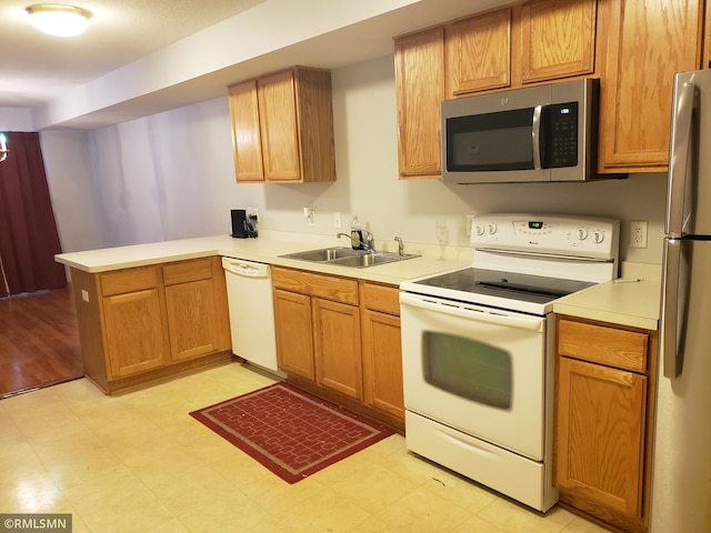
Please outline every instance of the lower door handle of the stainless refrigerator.
[[663, 264], [659, 349], [664, 378], [674, 379], [681, 375], [681, 358], [678, 355], [677, 339], [681, 275], [681, 241], [679, 239], [665, 239]]

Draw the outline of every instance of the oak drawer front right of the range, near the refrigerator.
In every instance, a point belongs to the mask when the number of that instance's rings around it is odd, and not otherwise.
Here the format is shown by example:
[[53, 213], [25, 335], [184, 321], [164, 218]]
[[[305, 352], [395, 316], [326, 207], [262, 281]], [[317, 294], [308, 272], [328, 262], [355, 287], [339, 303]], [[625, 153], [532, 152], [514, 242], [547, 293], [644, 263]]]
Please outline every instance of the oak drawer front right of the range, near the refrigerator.
[[558, 353], [634, 372], [647, 372], [649, 334], [561, 319]]

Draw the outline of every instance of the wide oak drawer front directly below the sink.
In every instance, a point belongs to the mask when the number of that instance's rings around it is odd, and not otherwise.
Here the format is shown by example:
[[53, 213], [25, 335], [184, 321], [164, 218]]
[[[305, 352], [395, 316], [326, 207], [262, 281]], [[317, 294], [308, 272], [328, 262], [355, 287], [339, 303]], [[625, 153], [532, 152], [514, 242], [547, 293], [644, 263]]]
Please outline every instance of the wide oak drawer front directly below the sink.
[[358, 304], [358, 281], [356, 280], [273, 266], [272, 282], [276, 289]]

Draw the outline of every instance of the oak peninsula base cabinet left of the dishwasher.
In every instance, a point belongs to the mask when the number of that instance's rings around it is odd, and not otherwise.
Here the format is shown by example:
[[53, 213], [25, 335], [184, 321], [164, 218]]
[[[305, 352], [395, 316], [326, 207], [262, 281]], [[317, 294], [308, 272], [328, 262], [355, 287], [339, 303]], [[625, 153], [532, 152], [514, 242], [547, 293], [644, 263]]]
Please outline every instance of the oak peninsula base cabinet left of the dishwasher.
[[71, 270], [84, 373], [108, 394], [231, 359], [220, 258]]

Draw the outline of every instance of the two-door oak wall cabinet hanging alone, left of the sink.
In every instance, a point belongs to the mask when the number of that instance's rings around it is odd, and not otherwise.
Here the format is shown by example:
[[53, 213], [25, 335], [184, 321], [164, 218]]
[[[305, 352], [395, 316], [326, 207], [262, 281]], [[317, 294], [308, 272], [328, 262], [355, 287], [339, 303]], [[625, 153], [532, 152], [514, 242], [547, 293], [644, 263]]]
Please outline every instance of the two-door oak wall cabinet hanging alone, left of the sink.
[[229, 88], [238, 183], [336, 180], [331, 73], [294, 67]]

